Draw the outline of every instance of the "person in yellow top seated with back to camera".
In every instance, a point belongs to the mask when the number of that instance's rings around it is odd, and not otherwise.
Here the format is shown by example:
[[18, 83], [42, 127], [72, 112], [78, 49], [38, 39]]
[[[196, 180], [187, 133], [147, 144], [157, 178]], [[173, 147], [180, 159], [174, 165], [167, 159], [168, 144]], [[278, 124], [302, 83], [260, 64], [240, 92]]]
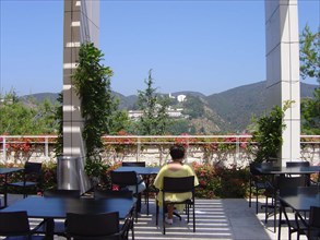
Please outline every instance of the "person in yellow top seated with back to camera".
[[[155, 188], [159, 190], [163, 188], [164, 177], [182, 178], [182, 177], [194, 176], [194, 185], [199, 184], [198, 178], [194, 175], [193, 169], [189, 165], [183, 164], [185, 154], [186, 154], [186, 149], [182, 145], [174, 145], [170, 147], [171, 161], [164, 165], [162, 169], [159, 170], [159, 172], [157, 173], [154, 180]], [[191, 197], [191, 192], [190, 193], [170, 193], [170, 194], [166, 193], [165, 201], [183, 201], [190, 197]], [[162, 192], [157, 194], [156, 199], [158, 201], [159, 206], [162, 206], [163, 205]], [[168, 216], [166, 217], [167, 224], [173, 224], [173, 215], [174, 215], [175, 208], [178, 212], [181, 212], [185, 208], [185, 204], [177, 204], [176, 206], [174, 206], [173, 204], [167, 205], [167, 211], [168, 211]]]

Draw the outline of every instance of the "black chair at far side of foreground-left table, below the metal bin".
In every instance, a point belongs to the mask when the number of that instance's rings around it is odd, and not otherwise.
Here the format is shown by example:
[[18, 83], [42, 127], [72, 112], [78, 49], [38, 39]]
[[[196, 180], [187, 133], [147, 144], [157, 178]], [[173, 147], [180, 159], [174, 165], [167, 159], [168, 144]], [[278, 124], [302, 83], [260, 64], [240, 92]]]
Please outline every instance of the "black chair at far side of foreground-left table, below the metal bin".
[[[80, 190], [51, 189], [44, 192], [44, 197], [79, 199], [80, 195]], [[48, 225], [54, 227], [54, 235], [66, 237], [64, 221], [54, 220], [52, 218], [44, 219], [44, 224], [36, 232], [46, 233]]]

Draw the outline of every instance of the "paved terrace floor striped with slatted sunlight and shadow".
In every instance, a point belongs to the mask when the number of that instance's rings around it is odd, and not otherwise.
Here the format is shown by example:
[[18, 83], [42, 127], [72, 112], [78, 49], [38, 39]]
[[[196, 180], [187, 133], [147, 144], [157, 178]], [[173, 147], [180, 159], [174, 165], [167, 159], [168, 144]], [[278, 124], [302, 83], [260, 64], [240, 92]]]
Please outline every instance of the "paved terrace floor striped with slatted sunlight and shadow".
[[[10, 204], [20, 197], [9, 195]], [[245, 199], [195, 200], [195, 232], [192, 231], [192, 220], [187, 224], [187, 217], [182, 215], [181, 221], [175, 218], [174, 225], [166, 227], [164, 236], [162, 224], [158, 227], [155, 226], [155, 204], [152, 201], [149, 216], [145, 214], [145, 204], [142, 204], [142, 213], [134, 225], [134, 237], [137, 240], [276, 240], [277, 232], [273, 232], [272, 218], [265, 225], [263, 209], [259, 207], [260, 213], [256, 215], [254, 204], [252, 203], [252, 207], [249, 207]], [[287, 239], [287, 228], [283, 227], [282, 240]], [[293, 239], [296, 239], [296, 233], [293, 235]], [[300, 237], [300, 240], [306, 239], [305, 236]]]

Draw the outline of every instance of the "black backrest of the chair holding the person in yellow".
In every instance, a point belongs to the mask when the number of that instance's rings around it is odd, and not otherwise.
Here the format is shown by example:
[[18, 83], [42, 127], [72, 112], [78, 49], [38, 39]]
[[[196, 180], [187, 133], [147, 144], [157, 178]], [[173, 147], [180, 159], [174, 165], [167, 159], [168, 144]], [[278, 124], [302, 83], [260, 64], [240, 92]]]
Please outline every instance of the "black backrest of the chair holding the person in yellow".
[[182, 193], [194, 191], [194, 176], [182, 178], [164, 177], [163, 192]]

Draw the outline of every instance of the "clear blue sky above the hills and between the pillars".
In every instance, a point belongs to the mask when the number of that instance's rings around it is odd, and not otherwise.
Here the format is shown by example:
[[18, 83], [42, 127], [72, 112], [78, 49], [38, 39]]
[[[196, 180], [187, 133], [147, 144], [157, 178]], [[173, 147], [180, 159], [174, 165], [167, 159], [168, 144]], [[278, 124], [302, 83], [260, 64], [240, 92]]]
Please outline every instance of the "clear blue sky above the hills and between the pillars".
[[[62, 0], [0, 0], [0, 93], [62, 89]], [[319, 0], [299, 0], [299, 28], [320, 24]], [[104, 64], [111, 88], [205, 95], [265, 80], [264, 1], [100, 0]], [[305, 81], [316, 84], [316, 80]]]

